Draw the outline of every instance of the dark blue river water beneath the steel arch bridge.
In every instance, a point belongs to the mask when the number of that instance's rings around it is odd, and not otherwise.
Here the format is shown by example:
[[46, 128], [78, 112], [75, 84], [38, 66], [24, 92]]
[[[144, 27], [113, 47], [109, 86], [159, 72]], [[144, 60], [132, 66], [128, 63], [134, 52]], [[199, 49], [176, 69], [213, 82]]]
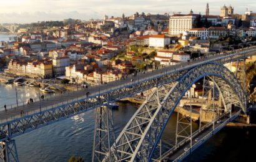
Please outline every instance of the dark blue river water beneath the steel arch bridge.
[[[18, 87], [17, 98], [37, 97], [38, 88]], [[14, 85], [0, 84], [1, 104], [16, 103]], [[114, 123], [118, 135], [138, 105], [119, 102], [119, 110], [114, 110]], [[82, 156], [91, 161], [94, 136], [94, 110], [62, 120], [24, 135], [16, 140], [19, 160], [22, 161], [67, 161], [70, 156]], [[164, 131], [163, 145], [174, 141], [174, 114]], [[118, 124], [117, 124], [118, 123]], [[193, 128], [197, 128], [193, 123]], [[255, 128], [224, 128], [204, 145], [194, 151], [184, 161], [249, 161], [254, 158], [252, 146], [256, 143]]]

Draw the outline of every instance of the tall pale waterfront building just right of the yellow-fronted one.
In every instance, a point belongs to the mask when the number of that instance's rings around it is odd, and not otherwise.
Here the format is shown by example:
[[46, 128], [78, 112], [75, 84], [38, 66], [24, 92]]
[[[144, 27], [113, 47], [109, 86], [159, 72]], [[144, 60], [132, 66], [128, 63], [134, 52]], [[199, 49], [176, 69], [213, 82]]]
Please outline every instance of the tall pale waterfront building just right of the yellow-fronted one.
[[70, 65], [69, 57], [56, 57], [52, 59], [52, 70], [55, 77], [65, 74], [65, 67]]

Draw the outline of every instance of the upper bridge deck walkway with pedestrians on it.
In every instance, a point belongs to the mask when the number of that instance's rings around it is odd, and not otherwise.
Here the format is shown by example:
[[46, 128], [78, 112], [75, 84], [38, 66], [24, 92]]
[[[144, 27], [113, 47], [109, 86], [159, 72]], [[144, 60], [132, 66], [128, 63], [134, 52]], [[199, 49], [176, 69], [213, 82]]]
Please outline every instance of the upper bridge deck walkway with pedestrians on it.
[[[225, 54], [216, 54], [216, 55], [210, 55], [209, 57], [205, 59], [196, 59], [191, 62], [182, 62], [181, 64], [178, 65], [173, 65], [173, 66], [168, 66], [164, 67], [162, 69], [157, 69], [154, 71], [147, 71], [145, 74], [137, 74], [136, 77], [133, 77], [132, 75], [129, 75], [128, 79], [126, 80], [117, 80], [114, 82], [109, 82], [104, 85], [97, 85], [94, 87], [89, 87], [88, 91], [90, 92], [90, 95], [96, 95], [99, 92], [106, 93], [106, 92], [111, 92], [113, 89], [118, 89], [124, 85], [135, 85], [137, 84], [136, 82], [142, 81], [142, 80], [149, 80], [150, 78], [157, 78], [159, 75], [164, 74], [165, 72], [171, 73], [171, 72], [179, 72], [181, 70], [185, 69], [191, 69], [192, 67], [195, 67], [200, 64], [205, 64], [208, 62], [218, 62], [221, 59], [229, 59], [231, 56], [237, 56], [240, 55], [238, 54], [239, 52], [252, 52], [255, 51], [256, 47], [249, 47], [247, 50], [237, 50], [234, 51], [230, 54], [225, 53]], [[237, 53], [238, 52], [238, 53]], [[250, 54], [252, 55], [252, 54]], [[231, 61], [231, 60], [230, 60]], [[131, 82], [131, 79], [134, 80], [134, 82]], [[21, 110], [24, 111], [26, 115], [33, 114], [36, 110], [40, 110], [40, 105], [41, 105], [41, 110], [47, 110], [52, 107], [57, 107], [57, 105], [61, 105], [63, 102], [72, 102], [73, 100], [77, 100], [77, 98], [84, 97], [86, 98], [86, 90], [79, 90], [74, 93], [69, 93], [69, 94], [64, 94], [59, 97], [54, 97], [54, 98], [47, 98], [47, 100], [43, 100], [40, 102], [34, 102], [31, 105], [21, 105], [17, 108], [12, 108], [7, 109], [7, 112], [2, 110], [0, 112], [0, 124], [13, 120], [14, 118], [21, 117]], [[2, 105], [3, 106], [3, 105]]]

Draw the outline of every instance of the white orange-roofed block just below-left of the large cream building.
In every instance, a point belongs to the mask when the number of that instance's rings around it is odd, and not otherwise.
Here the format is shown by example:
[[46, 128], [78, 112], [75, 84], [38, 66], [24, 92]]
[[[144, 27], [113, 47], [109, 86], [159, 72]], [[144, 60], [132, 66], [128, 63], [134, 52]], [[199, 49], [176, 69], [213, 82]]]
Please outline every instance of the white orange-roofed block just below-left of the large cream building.
[[164, 47], [170, 44], [170, 37], [163, 35], [155, 35], [149, 37], [149, 47]]

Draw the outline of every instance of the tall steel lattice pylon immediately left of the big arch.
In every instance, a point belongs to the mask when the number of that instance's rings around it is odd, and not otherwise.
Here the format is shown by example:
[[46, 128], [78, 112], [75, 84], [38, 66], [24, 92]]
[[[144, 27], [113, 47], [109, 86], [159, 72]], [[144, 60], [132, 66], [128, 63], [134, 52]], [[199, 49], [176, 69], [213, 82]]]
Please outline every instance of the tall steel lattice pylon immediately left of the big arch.
[[[105, 156], [111, 157], [111, 146], [116, 141], [112, 106], [97, 107], [95, 113], [94, 146], [92, 161], [102, 161]], [[109, 158], [111, 161], [112, 158]]]

